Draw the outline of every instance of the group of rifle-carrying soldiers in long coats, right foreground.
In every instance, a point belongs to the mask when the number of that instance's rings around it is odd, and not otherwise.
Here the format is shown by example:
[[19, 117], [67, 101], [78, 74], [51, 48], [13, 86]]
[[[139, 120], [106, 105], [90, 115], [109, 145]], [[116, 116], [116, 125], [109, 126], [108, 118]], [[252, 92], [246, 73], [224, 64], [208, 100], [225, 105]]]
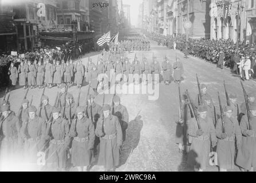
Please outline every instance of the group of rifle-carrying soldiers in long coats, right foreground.
[[191, 101], [188, 92], [181, 97], [182, 112], [176, 129], [179, 152], [187, 154], [188, 164], [199, 171], [207, 168], [212, 154], [214, 165], [222, 172], [235, 169], [235, 165], [242, 171], [256, 170], [256, 92], [246, 94], [246, 102], [241, 105], [235, 93], [227, 94], [227, 105], [219, 107], [219, 115], [204, 84], [201, 96], [201, 104], [198, 96]]

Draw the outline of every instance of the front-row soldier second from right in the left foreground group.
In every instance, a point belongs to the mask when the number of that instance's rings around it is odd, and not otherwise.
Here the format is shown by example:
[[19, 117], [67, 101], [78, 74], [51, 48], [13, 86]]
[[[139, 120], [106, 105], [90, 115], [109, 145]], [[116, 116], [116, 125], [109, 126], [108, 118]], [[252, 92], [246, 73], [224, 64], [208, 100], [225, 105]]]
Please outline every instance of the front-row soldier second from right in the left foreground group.
[[84, 115], [84, 107], [76, 109], [77, 120], [72, 121], [70, 136], [73, 137], [71, 162], [79, 172], [87, 172], [91, 165], [92, 149], [94, 149], [94, 124]]

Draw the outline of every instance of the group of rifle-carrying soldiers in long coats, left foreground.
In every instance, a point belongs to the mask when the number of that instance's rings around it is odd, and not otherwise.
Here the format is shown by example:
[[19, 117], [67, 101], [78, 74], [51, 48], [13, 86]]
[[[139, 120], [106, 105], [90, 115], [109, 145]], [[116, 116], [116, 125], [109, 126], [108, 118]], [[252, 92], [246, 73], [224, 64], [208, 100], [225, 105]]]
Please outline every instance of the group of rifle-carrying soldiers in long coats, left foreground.
[[[90, 92], [90, 86], [88, 88]], [[35, 168], [33, 170], [67, 170], [71, 159], [73, 167], [87, 171], [97, 154], [98, 165], [105, 170], [115, 170], [129, 121], [126, 107], [120, 104], [118, 96], [114, 96], [113, 106], [104, 104], [103, 96], [102, 107], [96, 104], [93, 94], [87, 94], [85, 105], [79, 106], [80, 92], [74, 102], [67, 89], [61, 84], [53, 106], [43, 90], [38, 109], [26, 99], [26, 92], [17, 115], [10, 110], [9, 102], [3, 101], [2, 170], [3, 165], [10, 164], [8, 161], [22, 157]], [[44, 154], [45, 164], [40, 165], [45, 166], [38, 165], [38, 153]]]

